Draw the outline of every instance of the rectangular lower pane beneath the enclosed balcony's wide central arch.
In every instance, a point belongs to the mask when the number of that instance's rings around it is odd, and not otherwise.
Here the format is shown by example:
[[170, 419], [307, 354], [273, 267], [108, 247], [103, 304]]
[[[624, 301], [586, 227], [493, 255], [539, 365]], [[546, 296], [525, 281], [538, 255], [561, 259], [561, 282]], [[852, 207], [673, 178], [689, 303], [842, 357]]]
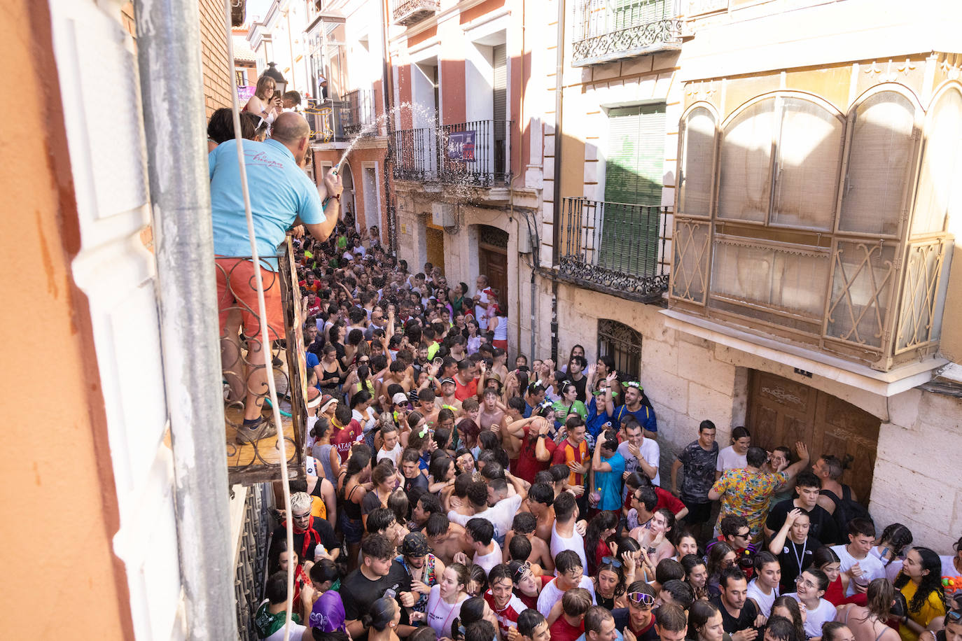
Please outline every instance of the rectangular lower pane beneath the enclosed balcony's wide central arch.
[[820, 319], [828, 255], [716, 238], [712, 292]]

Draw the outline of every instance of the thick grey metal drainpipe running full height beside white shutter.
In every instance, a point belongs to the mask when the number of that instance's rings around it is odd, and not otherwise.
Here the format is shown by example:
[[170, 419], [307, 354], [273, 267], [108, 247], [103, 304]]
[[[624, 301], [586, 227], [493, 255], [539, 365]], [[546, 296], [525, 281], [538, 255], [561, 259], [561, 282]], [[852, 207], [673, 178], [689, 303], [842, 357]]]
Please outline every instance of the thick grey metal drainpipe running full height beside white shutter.
[[[237, 638], [196, 0], [136, 0], [187, 638]], [[174, 110], [173, 106], [177, 106]]]

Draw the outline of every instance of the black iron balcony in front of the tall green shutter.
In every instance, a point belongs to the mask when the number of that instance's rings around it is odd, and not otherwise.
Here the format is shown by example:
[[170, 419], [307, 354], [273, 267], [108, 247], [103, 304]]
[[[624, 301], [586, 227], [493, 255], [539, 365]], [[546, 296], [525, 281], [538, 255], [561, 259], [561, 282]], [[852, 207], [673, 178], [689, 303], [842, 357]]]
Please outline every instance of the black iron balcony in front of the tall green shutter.
[[560, 276], [620, 298], [660, 300], [669, 281], [662, 257], [670, 215], [667, 207], [565, 198]]

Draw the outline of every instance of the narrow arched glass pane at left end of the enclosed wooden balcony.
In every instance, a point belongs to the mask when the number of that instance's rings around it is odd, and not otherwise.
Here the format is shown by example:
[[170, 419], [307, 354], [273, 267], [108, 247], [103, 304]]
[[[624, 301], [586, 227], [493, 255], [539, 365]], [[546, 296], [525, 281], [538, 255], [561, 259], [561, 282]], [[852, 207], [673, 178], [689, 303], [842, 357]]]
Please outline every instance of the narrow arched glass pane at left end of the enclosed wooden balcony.
[[681, 215], [710, 216], [715, 117], [702, 107], [692, 110], [685, 121], [684, 132], [678, 210]]

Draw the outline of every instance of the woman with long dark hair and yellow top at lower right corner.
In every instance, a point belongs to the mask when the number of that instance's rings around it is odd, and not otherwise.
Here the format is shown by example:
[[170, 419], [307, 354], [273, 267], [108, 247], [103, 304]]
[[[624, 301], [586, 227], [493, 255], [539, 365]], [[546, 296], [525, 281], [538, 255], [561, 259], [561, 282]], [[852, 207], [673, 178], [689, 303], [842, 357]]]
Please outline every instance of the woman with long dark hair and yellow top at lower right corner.
[[942, 559], [928, 548], [909, 550], [895, 586], [908, 604], [908, 616], [899, 627], [903, 641], [916, 641], [933, 619], [946, 616]]

